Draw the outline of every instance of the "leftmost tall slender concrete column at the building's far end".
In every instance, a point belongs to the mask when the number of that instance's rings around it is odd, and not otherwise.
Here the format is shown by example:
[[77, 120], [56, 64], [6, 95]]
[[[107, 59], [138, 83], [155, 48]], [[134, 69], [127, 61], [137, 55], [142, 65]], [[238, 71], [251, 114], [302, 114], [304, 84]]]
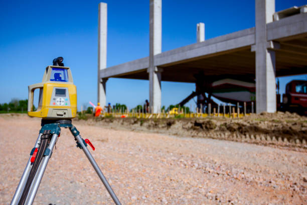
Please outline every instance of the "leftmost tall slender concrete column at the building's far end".
[[107, 4], [99, 3], [98, 5], [98, 95], [97, 101], [100, 106], [106, 105], [106, 80], [101, 79], [100, 70], [106, 68], [107, 52]]

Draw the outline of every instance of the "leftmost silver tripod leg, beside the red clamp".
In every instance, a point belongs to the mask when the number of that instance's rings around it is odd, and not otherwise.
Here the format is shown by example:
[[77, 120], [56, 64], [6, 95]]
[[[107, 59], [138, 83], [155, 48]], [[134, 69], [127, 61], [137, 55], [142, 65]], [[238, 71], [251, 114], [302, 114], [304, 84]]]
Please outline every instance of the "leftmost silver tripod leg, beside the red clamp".
[[[42, 136], [42, 133], [39, 134], [39, 137], [37, 138], [36, 143], [34, 145], [34, 148], [38, 148], [39, 147], [39, 143], [41, 142], [41, 136]], [[28, 163], [27, 163], [27, 166], [26, 166], [25, 171], [23, 173], [23, 176], [21, 177], [20, 182], [18, 184], [18, 187], [17, 187], [17, 189], [15, 191], [15, 194], [13, 196], [11, 205], [15, 205], [15, 204], [18, 203], [19, 198], [20, 198], [20, 196], [21, 196], [21, 194], [23, 192], [23, 189], [25, 187], [25, 184], [26, 184], [28, 176], [29, 176], [29, 172], [30, 172], [30, 170], [32, 168], [31, 157], [32, 157], [32, 155], [30, 155], [30, 158], [28, 160]]]

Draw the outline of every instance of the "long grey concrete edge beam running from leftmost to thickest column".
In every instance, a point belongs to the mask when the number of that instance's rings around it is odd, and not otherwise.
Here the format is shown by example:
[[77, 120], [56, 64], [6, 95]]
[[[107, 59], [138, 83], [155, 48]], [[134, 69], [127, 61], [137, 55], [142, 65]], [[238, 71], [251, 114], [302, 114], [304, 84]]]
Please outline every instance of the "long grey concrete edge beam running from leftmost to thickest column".
[[[206, 55], [219, 55], [217, 52], [233, 52], [230, 49], [242, 48], [255, 44], [254, 28], [245, 29], [235, 33], [216, 37], [204, 42], [184, 46], [174, 50], [166, 51], [155, 56], [154, 65], [161, 66], [168, 63], [180, 63], [189, 61]], [[174, 61], [172, 61], [172, 59]], [[129, 61], [123, 64], [108, 67], [100, 71], [102, 78], [118, 77], [129, 73], [147, 69], [148, 57]]]

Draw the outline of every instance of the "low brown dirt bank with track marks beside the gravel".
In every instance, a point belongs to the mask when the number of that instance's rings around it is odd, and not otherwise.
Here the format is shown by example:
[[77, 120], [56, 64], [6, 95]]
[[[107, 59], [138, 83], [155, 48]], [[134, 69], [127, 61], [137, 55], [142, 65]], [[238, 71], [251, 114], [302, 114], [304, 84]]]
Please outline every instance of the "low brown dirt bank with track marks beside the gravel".
[[[76, 119], [78, 121], [78, 119]], [[164, 133], [184, 137], [216, 138], [306, 149], [307, 118], [291, 113], [261, 113], [243, 118], [93, 118], [85, 121], [113, 129]]]

